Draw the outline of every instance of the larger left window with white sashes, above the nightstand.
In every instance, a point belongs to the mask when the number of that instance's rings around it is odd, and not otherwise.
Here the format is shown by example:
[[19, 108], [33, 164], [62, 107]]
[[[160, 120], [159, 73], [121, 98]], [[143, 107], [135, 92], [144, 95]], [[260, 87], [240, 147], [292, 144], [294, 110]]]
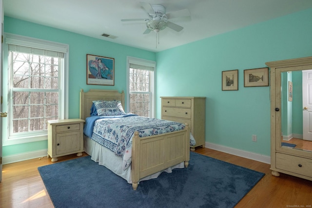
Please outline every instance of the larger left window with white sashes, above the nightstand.
[[[59, 48], [58, 43], [39, 41], [37, 48], [37, 39], [33, 42], [24, 40], [13, 37], [6, 41], [10, 118], [7, 141], [47, 139], [47, 121], [67, 118], [67, 54], [64, 53], [67, 46]], [[29, 142], [29, 139], [15, 143], [23, 142]]]

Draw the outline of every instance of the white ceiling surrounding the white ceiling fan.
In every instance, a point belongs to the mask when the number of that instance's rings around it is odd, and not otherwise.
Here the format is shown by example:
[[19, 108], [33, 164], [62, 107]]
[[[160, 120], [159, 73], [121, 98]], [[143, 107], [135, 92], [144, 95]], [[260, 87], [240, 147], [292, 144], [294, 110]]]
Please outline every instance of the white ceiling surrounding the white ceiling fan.
[[[312, 0], [3, 0], [4, 15], [153, 52], [312, 8]], [[140, 1], [161, 4], [166, 13], [189, 9], [191, 18], [170, 19], [184, 29], [143, 35], [148, 18]], [[5, 24], [5, 22], [4, 22]], [[109, 34], [117, 38], [105, 38]]]

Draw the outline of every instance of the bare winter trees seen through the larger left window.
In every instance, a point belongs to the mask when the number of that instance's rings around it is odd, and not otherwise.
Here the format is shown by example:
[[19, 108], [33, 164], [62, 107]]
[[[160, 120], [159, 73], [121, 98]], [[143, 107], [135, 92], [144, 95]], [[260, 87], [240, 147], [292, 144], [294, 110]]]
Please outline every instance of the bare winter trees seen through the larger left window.
[[11, 52], [12, 133], [47, 130], [59, 117], [59, 58]]

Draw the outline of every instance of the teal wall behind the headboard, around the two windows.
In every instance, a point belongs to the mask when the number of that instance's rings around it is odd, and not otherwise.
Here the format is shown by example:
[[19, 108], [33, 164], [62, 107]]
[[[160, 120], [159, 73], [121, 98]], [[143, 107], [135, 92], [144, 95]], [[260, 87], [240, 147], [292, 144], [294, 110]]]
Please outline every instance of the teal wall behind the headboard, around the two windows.
[[[126, 90], [126, 57], [156, 60], [154, 52], [90, 38], [76, 33], [4, 17], [4, 32], [69, 45], [69, 118], [79, 117], [79, 91], [84, 89]], [[115, 58], [115, 85], [86, 84], [86, 54]], [[5, 60], [3, 60], [5, 61]], [[47, 149], [47, 141], [4, 146], [2, 156]]]

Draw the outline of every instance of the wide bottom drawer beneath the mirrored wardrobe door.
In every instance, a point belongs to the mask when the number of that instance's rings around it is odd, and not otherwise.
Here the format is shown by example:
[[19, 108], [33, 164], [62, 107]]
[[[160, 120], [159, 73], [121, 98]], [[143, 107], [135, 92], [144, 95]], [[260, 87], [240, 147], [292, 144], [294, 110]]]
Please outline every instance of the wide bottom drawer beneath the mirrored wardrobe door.
[[276, 152], [276, 168], [312, 177], [312, 159]]

